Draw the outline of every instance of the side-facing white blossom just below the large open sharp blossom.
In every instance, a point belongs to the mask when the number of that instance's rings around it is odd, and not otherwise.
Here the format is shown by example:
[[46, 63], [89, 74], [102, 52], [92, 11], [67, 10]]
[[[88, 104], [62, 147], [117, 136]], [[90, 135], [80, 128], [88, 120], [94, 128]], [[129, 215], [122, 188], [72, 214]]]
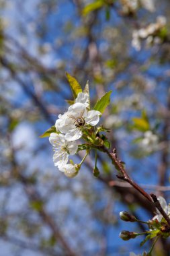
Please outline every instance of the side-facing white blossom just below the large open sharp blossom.
[[65, 166], [69, 160], [69, 154], [74, 155], [77, 152], [78, 146], [75, 141], [67, 141], [65, 135], [61, 133], [50, 133], [49, 141], [54, 149], [54, 166]]

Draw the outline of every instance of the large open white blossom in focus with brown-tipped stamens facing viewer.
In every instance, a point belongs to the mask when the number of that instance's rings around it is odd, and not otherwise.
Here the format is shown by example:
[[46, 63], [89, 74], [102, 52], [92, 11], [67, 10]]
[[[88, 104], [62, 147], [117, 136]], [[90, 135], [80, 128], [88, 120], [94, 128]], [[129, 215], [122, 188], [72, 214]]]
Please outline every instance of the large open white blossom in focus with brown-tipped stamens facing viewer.
[[68, 141], [75, 141], [83, 135], [83, 129], [88, 125], [95, 126], [101, 113], [97, 110], [87, 110], [86, 104], [76, 102], [69, 107], [64, 115], [58, 115], [56, 130], [65, 133]]

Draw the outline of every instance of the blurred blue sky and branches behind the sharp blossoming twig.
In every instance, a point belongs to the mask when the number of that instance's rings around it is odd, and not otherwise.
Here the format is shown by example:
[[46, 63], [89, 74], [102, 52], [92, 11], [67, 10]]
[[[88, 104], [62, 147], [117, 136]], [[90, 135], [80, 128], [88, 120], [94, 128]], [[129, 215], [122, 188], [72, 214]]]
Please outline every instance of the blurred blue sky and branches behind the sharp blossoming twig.
[[[0, 0], [0, 246], [2, 256], [111, 256], [141, 253], [122, 241], [127, 210], [153, 218], [144, 197], [94, 156], [69, 179], [52, 162], [48, 137], [72, 100], [68, 71], [89, 80], [91, 105], [112, 90], [101, 122], [128, 173], [169, 202], [169, 0]], [[79, 163], [81, 156], [75, 158]], [[110, 183], [112, 181], [112, 183]], [[154, 255], [169, 255], [158, 241]]]

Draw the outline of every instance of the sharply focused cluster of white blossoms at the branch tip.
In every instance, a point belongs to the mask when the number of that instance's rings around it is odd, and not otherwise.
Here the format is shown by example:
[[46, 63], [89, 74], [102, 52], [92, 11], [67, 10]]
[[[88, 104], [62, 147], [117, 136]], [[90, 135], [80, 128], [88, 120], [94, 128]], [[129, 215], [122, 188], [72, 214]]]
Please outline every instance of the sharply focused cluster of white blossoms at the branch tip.
[[50, 133], [49, 141], [54, 149], [54, 165], [67, 177], [74, 177], [79, 170], [76, 164], [67, 164], [69, 155], [77, 152], [77, 139], [86, 129], [97, 125], [100, 115], [97, 110], [89, 110], [89, 95], [83, 92], [79, 92], [67, 112], [58, 115], [56, 133]]

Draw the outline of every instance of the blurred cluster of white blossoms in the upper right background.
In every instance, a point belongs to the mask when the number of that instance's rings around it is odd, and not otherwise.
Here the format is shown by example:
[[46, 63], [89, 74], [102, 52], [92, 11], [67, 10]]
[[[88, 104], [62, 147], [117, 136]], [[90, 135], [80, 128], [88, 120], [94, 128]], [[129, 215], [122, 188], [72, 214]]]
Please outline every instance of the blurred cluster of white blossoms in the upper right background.
[[140, 41], [146, 39], [146, 45], [151, 45], [151, 43], [158, 44], [161, 42], [160, 36], [157, 33], [161, 31], [166, 25], [166, 18], [164, 16], [157, 17], [155, 23], [151, 23], [146, 28], [140, 28], [139, 30], [134, 30], [132, 33], [132, 46], [136, 51], [140, 51], [141, 44]]

